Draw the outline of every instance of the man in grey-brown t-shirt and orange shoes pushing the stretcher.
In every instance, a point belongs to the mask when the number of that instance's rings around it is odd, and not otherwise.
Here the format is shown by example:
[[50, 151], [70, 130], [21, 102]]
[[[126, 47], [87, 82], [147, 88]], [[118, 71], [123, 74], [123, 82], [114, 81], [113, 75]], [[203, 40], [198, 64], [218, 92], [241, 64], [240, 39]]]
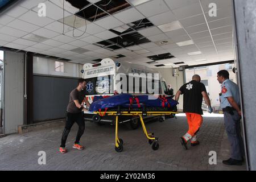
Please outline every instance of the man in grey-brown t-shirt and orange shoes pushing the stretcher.
[[65, 125], [64, 132], [61, 137], [61, 146], [60, 146], [60, 152], [66, 153], [67, 150], [65, 149], [65, 143], [68, 138], [69, 131], [71, 130], [71, 127], [76, 122], [77, 125], [79, 125], [79, 130], [77, 132], [76, 141], [73, 145], [73, 148], [76, 148], [77, 150], [83, 150], [84, 147], [80, 145], [79, 141], [82, 137], [82, 134], [84, 134], [85, 130], [85, 124], [84, 124], [84, 118], [82, 116], [82, 111], [87, 111], [87, 109], [84, 108], [82, 102], [84, 101], [86, 106], [90, 107], [89, 102], [85, 99], [84, 100], [84, 91], [86, 86], [86, 81], [82, 78], [78, 81], [78, 86], [76, 89], [72, 90], [69, 94], [69, 103], [67, 106], [67, 121]]

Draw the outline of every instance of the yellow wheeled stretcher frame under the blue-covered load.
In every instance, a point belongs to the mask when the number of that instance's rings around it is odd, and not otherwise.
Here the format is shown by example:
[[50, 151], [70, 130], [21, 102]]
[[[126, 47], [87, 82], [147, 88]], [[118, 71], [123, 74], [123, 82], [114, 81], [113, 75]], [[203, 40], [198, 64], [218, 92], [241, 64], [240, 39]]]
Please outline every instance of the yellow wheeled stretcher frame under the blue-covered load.
[[[159, 143], [158, 138], [154, 137], [154, 133], [147, 133], [146, 126], [143, 121], [143, 117], [145, 115], [171, 115], [171, 114], [177, 114], [175, 111], [106, 111], [106, 112], [100, 112], [100, 111], [94, 111], [94, 114], [99, 115], [115, 115], [115, 151], [122, 152], [123, 150], [123, 140], [118, 137], [118, 117], [119, 115], [133, 115], [133, 116], [139, 116], [141, 125], [143, 128], [143, 132], [146, 135], [148, 139], [148, 143], [152, 144], [153, 150], [158, 150]], [[103, 114], [102, 114], [103, 113]]]

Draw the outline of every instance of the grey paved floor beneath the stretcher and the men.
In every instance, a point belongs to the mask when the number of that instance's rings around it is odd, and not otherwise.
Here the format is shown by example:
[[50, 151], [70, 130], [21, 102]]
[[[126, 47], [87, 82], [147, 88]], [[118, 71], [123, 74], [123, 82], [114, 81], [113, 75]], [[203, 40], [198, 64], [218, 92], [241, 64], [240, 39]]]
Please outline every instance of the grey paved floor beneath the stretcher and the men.
[[[179, 137], [187, 131], [185, 117], [167, 119], [163, 123], [148, 122], [147, 130], [159, 137], [159, 150], [153, 151], [143, 135], [142, 127], [130, 130], [122, 125], [119, 137], [123, 152], [114, 150], [114, 127], [86, 122], [81, 144], [72, 148], [77, 127], [74, 125], [67, 142], [67, 154], [57, 150], [63, 127], [14, 134], [0, 138], [0, 170], [246, 170], [243, 166], [224, 166], [229, 158], [229, 144], [223, 118], [205, 117], [199, 133], [200, 146], [185, 151]], [[38, 152], [46, 152], [46, 165], [38, 164]], [[210, 151], [217, 152], [217, 165], [210, 165]]]

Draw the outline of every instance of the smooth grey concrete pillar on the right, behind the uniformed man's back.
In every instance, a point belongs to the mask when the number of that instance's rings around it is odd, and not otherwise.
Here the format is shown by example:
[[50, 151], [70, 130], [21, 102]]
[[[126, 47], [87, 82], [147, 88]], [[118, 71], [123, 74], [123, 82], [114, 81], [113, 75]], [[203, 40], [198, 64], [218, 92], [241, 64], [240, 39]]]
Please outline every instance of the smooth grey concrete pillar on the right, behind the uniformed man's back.
[[242, 98], [242, 120], [245, 129], [248, 169], [256, 170], [256, 1], [234, 0], [238, 43], [238, 82]]

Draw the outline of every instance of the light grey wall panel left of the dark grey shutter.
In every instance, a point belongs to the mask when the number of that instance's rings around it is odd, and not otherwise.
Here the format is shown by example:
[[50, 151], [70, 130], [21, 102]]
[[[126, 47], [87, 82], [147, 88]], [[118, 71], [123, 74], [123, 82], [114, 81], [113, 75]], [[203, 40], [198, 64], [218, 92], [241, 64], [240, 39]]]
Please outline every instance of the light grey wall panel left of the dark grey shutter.
[[24, 54], [5, 51], [4, 129], [17, 133], [24, 122]]

